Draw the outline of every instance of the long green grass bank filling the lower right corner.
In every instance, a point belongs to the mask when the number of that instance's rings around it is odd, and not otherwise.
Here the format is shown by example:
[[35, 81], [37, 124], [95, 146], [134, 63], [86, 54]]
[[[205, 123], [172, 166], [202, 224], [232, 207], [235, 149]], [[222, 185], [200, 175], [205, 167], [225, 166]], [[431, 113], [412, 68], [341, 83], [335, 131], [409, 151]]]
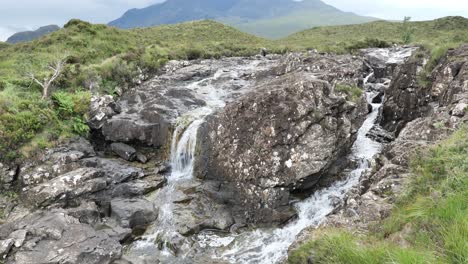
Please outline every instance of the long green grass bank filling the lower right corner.
[[415, 155], [414, 177], [369, 235], [322, 230], [289, 263], [468, 263], [468, 127]]

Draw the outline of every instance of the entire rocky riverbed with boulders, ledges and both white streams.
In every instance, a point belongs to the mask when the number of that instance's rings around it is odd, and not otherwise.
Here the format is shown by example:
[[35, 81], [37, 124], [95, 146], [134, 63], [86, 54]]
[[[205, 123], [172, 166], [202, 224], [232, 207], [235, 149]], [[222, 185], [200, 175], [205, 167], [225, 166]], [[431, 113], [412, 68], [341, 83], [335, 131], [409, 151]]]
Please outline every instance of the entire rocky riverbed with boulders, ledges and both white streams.
[[94, 97], [90, 139], [0, 166], [20, 190], [0, 201], [0, 257], [275, 263], [308, 227], [365, 229], [401, 191], [409, 150], [466, 122], [467, 50], [430, 89], [411, 47], [169, 62]]

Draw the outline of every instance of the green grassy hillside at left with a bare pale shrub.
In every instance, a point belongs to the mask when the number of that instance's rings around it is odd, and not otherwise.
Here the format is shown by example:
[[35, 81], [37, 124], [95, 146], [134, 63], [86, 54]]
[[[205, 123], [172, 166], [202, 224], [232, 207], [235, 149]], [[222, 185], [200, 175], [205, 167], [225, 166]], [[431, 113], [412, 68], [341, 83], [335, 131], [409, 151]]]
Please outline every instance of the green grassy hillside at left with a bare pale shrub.
[[[38, 40], [0, 46], [0, 161], [30, 157], [74, 135], [86, 135], [93, 93], [114, 95], [150, 76], [171, 59], [248, 56], [274, 48], [212, 21], [119, 30], [71, 20]], [[55, 91], [41, 99], [31, 79], [50, 78], [49, 64], [66, 58]]]

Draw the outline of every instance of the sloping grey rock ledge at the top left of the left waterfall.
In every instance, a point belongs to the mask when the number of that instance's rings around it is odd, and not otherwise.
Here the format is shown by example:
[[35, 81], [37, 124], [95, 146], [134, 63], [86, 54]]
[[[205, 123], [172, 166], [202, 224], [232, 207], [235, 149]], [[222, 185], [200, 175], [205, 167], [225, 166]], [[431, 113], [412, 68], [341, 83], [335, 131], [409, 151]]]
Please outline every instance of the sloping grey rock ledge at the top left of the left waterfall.
[[[213, 92], [212, 85], [219, 84], [219, 90], [214, 91], [220, 93], [219, 97], [224, 97], [224, 93], [227, 97], [227, 93], [232, 94], [232, 91], [245, 86], [246, 81], [252, 79], [249, 72], [252, 70], [243, 67], [252, 61], [230, 58], [206, 60], [196, 64], [169, 62], [160, 76], [128, 91], [120, 98], [117, 103], [120, 113], [106, 115], [106, 110], [96, 111], [99, 116], [94, 116], [91, 120], [103, 122], [105, 119], [101, 127], [106, 140], [165, 146], [171, 139], [171, 129], [178, 117], [207, 103], [216, 103], [210, 102], [210, 96], [206, 94]], [[264, 66], [258, 65], [256, 71], [262, 67]], [[220, 68], [225, 72], [220, 72]], [[206, 83], [197, 83], [197, 80], [202, 81], [213, 75]], [[187, 81], [191, 81], [193, 85], [188, 85]], [[226, 92], [228, 90], [231, 92]]]

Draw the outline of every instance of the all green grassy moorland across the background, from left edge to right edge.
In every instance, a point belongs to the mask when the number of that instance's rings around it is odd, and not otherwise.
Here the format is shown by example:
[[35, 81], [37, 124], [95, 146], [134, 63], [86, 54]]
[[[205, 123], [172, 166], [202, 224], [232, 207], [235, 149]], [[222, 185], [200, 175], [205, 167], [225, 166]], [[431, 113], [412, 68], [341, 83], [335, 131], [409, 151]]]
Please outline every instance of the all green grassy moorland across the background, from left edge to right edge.
[[[432, 50], [432, 59], [420, 78], [420, 83], [428, 85], [430, 72], [445, 51], [468, 42], [468, 19], [405, 23], [320, 27], [270, 41], [213, 21], [120, 30], [71, 20], [63, 29], [32, 42], [0, 43], [0, 161], [12, 161], [89, 132], [82, 109], [64, 114], [71, 99], [64, 99], [62, 93], [82, 98], [78, 104], [83, 106], [90, 93], [119, 94], [172, 59], [249, 56], [261, 48], [272, 53], [307, 49], [354, 52], [402, 44], [407, 30], [412, 44]], [[31, 77], [50, 79], [53, 72], [48, 66], [58, 57], [65, 58], [63, 70], [43, 100], [43, 88]], [[360, 91], [352, 87], [338, 90], [351, 100], [360, 97]]]

